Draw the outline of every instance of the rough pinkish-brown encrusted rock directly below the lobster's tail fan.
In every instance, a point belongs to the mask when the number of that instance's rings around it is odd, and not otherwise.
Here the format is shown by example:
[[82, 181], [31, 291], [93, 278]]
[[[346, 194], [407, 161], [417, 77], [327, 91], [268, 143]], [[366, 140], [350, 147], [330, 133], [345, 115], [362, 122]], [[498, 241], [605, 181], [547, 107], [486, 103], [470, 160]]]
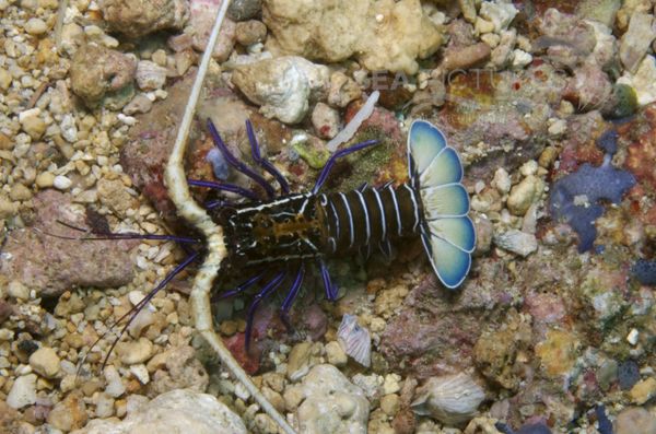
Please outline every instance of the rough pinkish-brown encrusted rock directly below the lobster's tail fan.
[[[458, 293], [438, 286], [431, 273], [403, 302], [380, 338], [390, 365], [407, 366], [419, 379], [454, 374], [473, 364], [473, 348], [484, 329], [505, 318], [517, 298], [503, 263], [480, 259]], [[448, 330], [448, 332], [445, 332]]]

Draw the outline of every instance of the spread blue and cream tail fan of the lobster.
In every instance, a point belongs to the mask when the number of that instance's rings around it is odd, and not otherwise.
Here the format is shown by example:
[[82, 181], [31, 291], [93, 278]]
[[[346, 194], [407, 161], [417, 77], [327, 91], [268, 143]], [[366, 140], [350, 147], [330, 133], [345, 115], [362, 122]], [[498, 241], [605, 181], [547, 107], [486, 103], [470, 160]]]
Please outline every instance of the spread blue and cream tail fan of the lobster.
[[422, 203], [422, 242], [442, 283], [455, 289], [471, 267], [476, 230], [469, 195], [461, 184], [462, 164], [442, 131], [415, 120], [408, 133], [408, 167]]

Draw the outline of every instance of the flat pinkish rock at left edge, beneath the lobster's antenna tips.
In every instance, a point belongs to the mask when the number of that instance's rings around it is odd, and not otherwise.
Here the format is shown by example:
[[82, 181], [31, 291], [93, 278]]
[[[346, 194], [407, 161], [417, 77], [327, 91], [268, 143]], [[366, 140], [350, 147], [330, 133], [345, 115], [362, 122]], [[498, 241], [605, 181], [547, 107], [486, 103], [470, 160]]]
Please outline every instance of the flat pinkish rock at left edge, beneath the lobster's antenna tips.
[[37, 296], [57, 296], [73, 286], [116, 288], [133, 278], [129, 248], [134, 242], [62, 239], [79, 237], [57, 220], [83, 226], [84, 212], [70, 195], [46, 190], [34, 198], [33, 226], [10, 233], [0, 257], [0, 274], [35, 290]]

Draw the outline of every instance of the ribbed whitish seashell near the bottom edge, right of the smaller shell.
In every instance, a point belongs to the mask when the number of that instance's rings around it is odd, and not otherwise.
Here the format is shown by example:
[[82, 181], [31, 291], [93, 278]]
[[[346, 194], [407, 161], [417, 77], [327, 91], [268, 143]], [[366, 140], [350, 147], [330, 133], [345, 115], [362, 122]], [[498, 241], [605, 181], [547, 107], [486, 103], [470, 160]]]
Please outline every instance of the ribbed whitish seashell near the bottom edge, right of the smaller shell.
[[467, 374], [433, 377], [418, 390], [410, 406], [419, 415], [431, 415], [447, 425], [460, 425], [476, 415], [485, 398], [483, 389]]

